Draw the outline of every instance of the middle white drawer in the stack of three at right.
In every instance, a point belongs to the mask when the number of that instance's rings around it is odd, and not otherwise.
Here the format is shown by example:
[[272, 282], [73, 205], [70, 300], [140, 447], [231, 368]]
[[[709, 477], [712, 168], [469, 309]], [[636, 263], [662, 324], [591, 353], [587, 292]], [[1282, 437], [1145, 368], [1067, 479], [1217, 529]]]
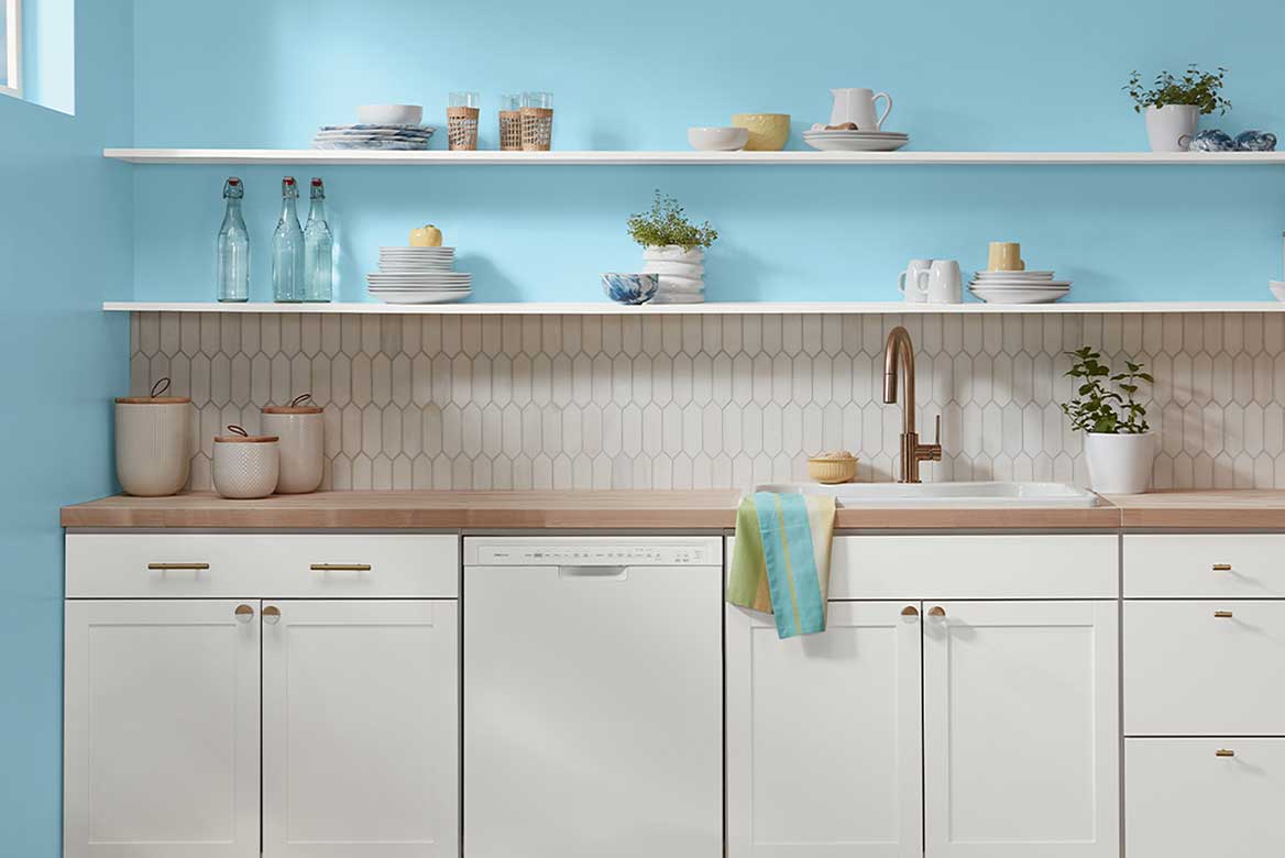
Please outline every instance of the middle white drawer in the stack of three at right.
[[1126, 601], [1123, 647], [1126, 735], [1285, 733], [1285, 602]]

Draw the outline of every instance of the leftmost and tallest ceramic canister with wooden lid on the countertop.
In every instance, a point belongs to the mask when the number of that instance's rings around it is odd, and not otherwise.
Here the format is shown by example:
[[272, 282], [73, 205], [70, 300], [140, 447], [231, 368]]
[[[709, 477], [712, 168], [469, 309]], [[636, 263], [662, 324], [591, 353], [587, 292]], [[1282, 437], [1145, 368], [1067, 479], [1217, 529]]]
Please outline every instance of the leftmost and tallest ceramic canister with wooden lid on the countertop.
[[188, 484], [191, 399], [163, 396], [161, 379], [144, 397], [116, 399], [116, 478], [126, 495], [162, 497]]

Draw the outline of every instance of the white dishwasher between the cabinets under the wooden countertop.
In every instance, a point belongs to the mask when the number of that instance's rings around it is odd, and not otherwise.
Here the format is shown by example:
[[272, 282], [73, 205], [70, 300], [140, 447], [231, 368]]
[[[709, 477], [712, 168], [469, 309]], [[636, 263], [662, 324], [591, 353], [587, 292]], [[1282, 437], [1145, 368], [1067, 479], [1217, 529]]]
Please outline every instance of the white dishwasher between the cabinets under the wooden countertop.
[[464, 854], [722, 854], [716, 537], [464, 539]]

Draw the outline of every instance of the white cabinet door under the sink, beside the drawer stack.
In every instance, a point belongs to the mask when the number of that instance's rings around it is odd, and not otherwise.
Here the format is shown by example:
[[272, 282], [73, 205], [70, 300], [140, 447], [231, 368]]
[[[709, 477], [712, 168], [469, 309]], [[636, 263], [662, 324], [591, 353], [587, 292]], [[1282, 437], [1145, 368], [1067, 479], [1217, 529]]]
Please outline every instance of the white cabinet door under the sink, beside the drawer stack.
[[928, 857], [1119, 855], [1118, 604], [925, 608]]

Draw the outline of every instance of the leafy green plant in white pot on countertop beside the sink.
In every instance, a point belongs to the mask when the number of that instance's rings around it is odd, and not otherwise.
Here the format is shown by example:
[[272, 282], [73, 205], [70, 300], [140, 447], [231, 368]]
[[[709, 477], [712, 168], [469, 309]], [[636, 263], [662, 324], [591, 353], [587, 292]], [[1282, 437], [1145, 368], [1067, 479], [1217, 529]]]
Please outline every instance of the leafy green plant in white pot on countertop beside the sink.
[[1137, 392], [1139, 383], [1155, 379], [1133, 361], [1124, 361], [1126, 371], [1113, 375], [1088, 346], [1068, 355], [1074, 361], [1067, 375], [1079, 387], [1061, 410], [1085, 433], [1090, 488], [1103, 495], [1141, 495], [1151, 484], [1156, 435]]

